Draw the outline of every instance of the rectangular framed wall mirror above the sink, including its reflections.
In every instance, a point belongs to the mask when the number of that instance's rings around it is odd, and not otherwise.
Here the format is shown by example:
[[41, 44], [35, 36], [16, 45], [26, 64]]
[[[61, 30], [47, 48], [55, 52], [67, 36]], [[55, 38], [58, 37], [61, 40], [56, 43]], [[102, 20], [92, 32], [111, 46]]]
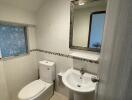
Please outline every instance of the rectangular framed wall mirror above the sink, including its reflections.
[[100, 51], [106, 5], [106, 0], [71, 1], [69, 41], [71, 49]]

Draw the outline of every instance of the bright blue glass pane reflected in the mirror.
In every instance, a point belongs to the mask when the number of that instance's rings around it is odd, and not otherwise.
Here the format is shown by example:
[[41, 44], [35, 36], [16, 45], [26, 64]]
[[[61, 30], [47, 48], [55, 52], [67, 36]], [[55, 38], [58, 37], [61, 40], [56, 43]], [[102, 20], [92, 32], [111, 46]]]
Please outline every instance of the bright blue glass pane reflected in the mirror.
[[90, 33], [90, 48], [100, 48], [105, 23], [105, 13], [93, 14]]

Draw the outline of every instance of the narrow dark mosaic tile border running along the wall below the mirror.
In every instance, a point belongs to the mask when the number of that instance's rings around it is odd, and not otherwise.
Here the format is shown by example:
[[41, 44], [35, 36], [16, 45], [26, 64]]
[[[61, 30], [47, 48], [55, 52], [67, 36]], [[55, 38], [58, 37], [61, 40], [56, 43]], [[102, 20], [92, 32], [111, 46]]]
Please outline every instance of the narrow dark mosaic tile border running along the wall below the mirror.
[[72, 58], [72, 59], [86, 61], [86, 62], [90, 62], [90, 63], [96, 63], [96, 64], [99, 63], [98, 61], [93, 61], [93, 60], [88, 60], [88, 59], [73, 57], [71, 55], [57, 53], [57, 52], [52, 52], [52, 51], [47, 51], [47, 50], [40, 50], [40, 49], [32, 49], [32, 50], [30, 50], [30, 52], [34, 52], [34, 51], [38, 51], [38, 52], [42, 52], [42, 53], [46, 53], [46, 54], [51, 54], [51, 55], [56, 55], [56, 56], [61, 56], [61, 57], [66, 57], [66, 58]]

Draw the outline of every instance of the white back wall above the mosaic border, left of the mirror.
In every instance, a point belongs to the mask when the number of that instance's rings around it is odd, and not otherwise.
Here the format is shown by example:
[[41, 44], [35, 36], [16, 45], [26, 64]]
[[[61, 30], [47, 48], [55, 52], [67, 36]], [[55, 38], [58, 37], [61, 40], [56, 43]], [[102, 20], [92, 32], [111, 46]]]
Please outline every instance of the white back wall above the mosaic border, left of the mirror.
[[69, 53], [70, 6], [68, 0], [47, 0], [38, 12], [37, 47]]

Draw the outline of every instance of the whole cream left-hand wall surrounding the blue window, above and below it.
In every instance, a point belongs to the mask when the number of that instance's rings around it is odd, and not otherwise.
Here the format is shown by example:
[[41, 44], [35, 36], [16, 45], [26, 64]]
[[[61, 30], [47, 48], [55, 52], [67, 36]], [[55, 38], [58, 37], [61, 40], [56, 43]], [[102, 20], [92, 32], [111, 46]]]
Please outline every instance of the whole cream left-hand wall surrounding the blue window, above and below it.
[[[0, 21], [28, 25], [36, 24], [35, 14], [32, 12], [4, 4], [0, 4], [0, 12]], [[36, 49], [35, 27], [28, 26], [28, 38], [30, 50]], [[0, 61], [0, 100], [18, 100], [17, 95], [20, 89], [37, 78], [38, 67], [36, 52]]]

